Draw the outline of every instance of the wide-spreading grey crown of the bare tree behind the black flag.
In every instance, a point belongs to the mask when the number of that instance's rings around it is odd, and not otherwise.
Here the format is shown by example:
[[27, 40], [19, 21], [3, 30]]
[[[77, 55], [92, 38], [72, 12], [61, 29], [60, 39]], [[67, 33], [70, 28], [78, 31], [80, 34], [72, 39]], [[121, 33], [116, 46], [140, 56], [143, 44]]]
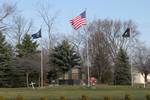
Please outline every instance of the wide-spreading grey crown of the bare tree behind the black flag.
[[[131, 36], [130, 38], [125, 39], [122, 37], [122, 34], [128, 27], [131, 29]], [[96, 32], [104, 34], [104, 38], [107, 41], [105, 43], [109, 45], [110, 56], [113, 62], [115, 61], [118, 50], [120, 48], [125, 50], [130, 49], [129, 47], [132, 47], [135, 44], [137, 35], [139, 34], [136, 24], [131, 20], [125, 22], [107, 19], [95, 20], [89, 24], [87, 31], [89, 34], [95, 34]]]

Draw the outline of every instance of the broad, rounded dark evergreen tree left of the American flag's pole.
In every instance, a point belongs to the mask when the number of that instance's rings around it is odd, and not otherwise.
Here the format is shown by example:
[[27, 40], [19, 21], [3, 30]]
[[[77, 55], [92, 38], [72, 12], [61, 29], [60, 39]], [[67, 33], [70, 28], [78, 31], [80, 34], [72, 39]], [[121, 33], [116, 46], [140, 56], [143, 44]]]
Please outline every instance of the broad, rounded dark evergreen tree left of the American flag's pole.
[[61, 72], [61, 74], [70, 71], [69, 78], [71, 79], [71, 68], [81, 64], [81, 57], [67, 40], [63, 40], [61, 44], [58, 44], [52, 50], [50, 62], [55, 66], [52, 70]]

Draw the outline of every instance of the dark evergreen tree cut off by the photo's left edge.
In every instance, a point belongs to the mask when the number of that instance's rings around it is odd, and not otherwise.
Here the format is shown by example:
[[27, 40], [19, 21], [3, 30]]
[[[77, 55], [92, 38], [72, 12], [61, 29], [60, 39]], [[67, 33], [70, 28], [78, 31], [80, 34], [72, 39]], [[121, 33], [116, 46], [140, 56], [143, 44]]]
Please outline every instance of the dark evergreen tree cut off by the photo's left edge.
[[8, 87], [11, 84], [13, 64], [12, 47], [0, 32], [0, 86]]

